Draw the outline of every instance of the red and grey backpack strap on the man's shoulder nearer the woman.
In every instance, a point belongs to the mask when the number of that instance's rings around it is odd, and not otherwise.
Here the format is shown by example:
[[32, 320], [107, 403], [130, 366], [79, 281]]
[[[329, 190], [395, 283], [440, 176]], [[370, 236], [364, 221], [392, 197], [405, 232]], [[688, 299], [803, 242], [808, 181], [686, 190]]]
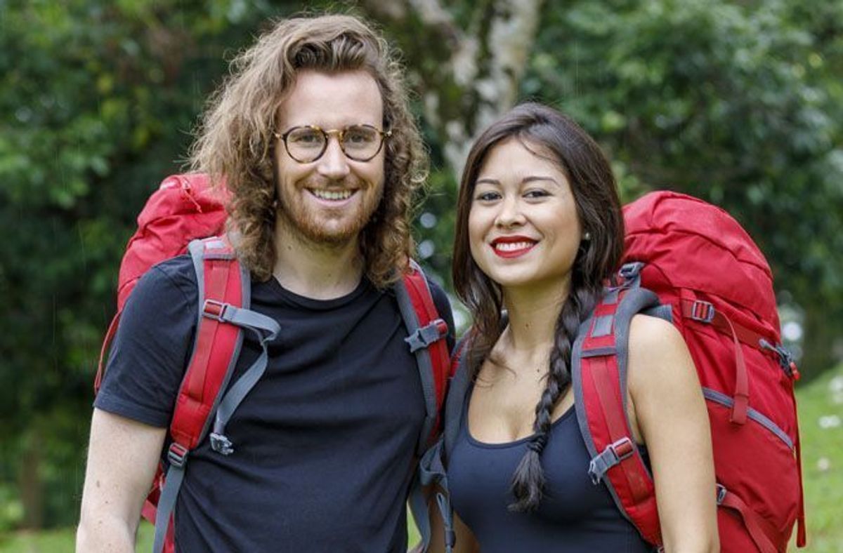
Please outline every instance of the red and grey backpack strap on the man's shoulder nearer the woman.
[[448, 323], [439, 316], [427, 277], [415, 261], [410, 270], [395, 283], [395, 298], [401, 317], [407, 327], [405, 338], [412, 354], [416, 356], [421, 389], [425, 400], [425, 421], [416, 448], [421, 455], [436, 438], [439, 428], [439, 411], [445, 388], [448, 386], [449, 355]]

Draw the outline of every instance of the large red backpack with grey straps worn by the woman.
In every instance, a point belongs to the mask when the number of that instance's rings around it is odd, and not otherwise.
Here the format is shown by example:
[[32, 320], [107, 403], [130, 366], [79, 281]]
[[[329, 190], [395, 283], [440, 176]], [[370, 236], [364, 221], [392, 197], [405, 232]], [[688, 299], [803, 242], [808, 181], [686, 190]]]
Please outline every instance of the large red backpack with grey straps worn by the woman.
[[[574, 406], [593, 457], [583, 470], [595, 485], [604, 482], [645, 540], [661, 547], [652, 475], [632, 441], [624, 404], [631, 318], [639, 312], [662, 316], [685, 338], [706, 398], [722, 551], [785, 551], [795, 523], [797, 545], [805, 545], [793, 396], [798, 372], [781, 347], [764, 256], [728, 213], [684, 194], [647, 194], [626, 205], [624, 218], [622, 284], [606, 290], [572, 351]], [[422, 481], [446, 490], [445, 466], [470, 385], [467, 356], [461, 355], [466, 342], [454, 353], [443, 440], [422, 459]], [[450, 550], [448, 497], [439, 503]], [[422, 526], [427, 529], [427, 520]]]

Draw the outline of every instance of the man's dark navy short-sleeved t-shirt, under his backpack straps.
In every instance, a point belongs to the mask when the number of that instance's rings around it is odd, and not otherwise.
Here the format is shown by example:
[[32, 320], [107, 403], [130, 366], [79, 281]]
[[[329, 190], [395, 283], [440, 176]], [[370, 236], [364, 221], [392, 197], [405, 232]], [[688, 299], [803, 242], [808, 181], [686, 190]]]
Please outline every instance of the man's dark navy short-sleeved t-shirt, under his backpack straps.
[[[432, 285], [453, 328], [448, 299]], [[251, 308], [281, 325], [266, 373], [226, 427], [234, 454], [204, 440], [175, 507], [182, 551], [405, 551], [405, 500], [425, 407], [395, 297], [368, 280], [312, 300], [252, 282]], [[126, 303], [94, 407], [169, 426], [196, 330], [196, 275], [174, 258]], [[251, 332], [231, 382], [260, 354]]]

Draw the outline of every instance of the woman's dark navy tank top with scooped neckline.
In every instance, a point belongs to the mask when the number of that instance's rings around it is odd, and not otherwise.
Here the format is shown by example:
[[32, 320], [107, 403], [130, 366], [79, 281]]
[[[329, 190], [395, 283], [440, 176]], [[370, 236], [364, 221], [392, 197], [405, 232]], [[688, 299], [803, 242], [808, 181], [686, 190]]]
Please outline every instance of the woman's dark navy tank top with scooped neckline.
[[[470, 391], [468, 396], [470, 396]], [[466, 407], [459, 438], [448, 461], [448, 489], [454, 511], [474, 532], [483, 553], [583, 551], [644, 553], [652, 547], [620, 514], [609, 490], [593, 485], [590, 456], [577, 425], [576, 410], [550, 429], [541, 455], [545, 497], [534, 513], [511, 513], [509, 488], [528, 438], [484, 444], [471, 437]]]

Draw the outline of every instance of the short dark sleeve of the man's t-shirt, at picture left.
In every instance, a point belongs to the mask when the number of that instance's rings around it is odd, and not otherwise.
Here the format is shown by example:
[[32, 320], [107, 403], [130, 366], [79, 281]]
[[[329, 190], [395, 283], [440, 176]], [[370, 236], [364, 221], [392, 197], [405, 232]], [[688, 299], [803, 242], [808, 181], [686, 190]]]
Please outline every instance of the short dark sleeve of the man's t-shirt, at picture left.
[[196, 332], [190, 258], [156, 265], [126, 301], [94, 407], [158, 428], [169, 426]]

